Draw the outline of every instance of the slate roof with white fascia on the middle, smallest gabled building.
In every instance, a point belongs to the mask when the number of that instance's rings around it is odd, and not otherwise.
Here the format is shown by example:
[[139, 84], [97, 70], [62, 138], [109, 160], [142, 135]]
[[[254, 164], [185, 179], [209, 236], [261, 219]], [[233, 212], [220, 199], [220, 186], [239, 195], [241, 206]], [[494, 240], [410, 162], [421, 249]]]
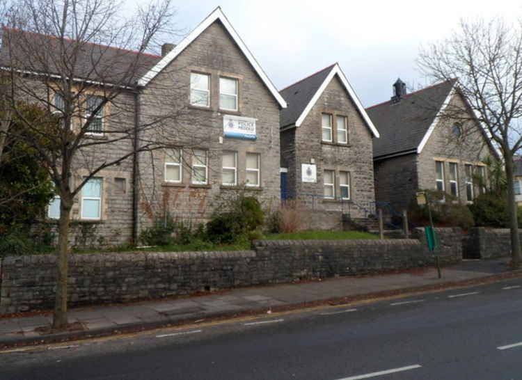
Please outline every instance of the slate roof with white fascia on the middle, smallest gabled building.
[[287, 127], [289, 125], [299, 127], [335, 75], [338, 76], [342, 85], [345, 87], [345, 90], [347, 90], [349, 97], [354, 102], [359, 113], [361, 113], [363, 120], [373, 136], [379, 137], [377, 128], [374, 126], [372, 120], [367, 116], [363, 105], [358, 100], [354, 89], [351, 88], [347, 77], [342, 72], [338, 63], [334, 63], [333, 65], [310, 75], [310, 77], [301, 79], [301, 81], [298, 81], [287, 88], [283, 88], [283, 90], [280, 91], [281, 95], [283, 95], [288, 103], [287, 109], [281, 111], [281, 127]]

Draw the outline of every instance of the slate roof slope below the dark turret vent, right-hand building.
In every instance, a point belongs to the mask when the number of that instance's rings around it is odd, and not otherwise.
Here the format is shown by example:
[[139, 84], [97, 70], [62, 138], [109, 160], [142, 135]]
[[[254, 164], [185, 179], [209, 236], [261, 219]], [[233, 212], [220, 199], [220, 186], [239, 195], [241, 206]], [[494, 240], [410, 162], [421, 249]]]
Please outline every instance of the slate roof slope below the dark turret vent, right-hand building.
[[366, 112], [381, 134], [373, 139], [374, 158], [416, 150], [455, 82], [444, 81], [406, 94], [399, 102], [368, 107]]

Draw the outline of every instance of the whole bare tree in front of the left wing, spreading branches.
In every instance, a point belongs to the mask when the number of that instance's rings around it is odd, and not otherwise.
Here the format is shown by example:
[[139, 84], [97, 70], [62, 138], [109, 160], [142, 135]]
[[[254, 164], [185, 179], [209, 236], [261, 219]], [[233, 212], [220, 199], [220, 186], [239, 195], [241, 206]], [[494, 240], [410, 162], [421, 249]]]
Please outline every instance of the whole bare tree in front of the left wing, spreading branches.
[[[132, 167], [140, 152], [179, 144], [173, 125], [189, 118], [189, 112], [177, 106], [175, 89], [171, 96], [158, 98], [161, 107], [154, 114], [136, 118], [137, 80], [161, 58], [149, 54], [159, 35], [176, 31], [175, 11], [171, 0], [158, 0], [122, 16], [127, 13], [116, 0], [15, 0], [2, 14], [0, 60], [9, 77], [10, 92], [5, 93], [13, 94], [4, 103], [31, 131], [2, 129], [3, 135], [31, 136], [26, 142], [37, 152], [61, 200], [54, 328], [68, 323], [74, 198], [104, 169]], [[155, 90], [161, 95], [161, 88]], [[40, 104], [53, 116], [24, 119], [19, 105], [27, 102]]]

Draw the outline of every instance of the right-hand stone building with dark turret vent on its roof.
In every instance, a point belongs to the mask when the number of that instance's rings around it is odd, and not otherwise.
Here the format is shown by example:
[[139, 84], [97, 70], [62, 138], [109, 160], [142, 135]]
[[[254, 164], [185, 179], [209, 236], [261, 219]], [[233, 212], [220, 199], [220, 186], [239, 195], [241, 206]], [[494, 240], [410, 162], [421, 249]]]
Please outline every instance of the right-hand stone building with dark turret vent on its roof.
[[418, 189], [438, 189], [472, 203], [483, 190], [477, 175], [487, 180], [484, 158], [498, 156], [457, 81], [406, 93], [398, 79], [393, 88], [391, 100], [366, 109], [381, 132], [373, 142], [377, 202], [402, 208]]

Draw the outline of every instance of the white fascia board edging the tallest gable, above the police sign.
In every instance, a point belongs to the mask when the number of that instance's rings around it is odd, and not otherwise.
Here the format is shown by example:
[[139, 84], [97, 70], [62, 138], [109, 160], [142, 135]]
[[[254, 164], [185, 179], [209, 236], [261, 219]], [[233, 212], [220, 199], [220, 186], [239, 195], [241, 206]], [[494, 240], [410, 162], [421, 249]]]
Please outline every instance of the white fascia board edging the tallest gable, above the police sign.
[[216, 20], [221, 21], [223, 26], [225, 26], [225, 29], [230, 33], [232, 36], [232, 39], [237, 44], [239, 49], [242, 51], [244, 56], [246, 56], [246, 59], [248, 62], [253, 66], [255, 72], [260, 76], [261, 80], [263, 81], [264, 85], [267, 86], [270, 93], [276, 98], [277, 102], [281, 106], [281, 108], [286, 108], [287, 104], [283, 97], [278, 93], [278, 90], [276, 90], [276, 87], [272, 82], [270, 81], [269, 77], [267, 77], [267, 74], [264, 73], [261, 66], [259, 65], [258, 61], [255, 60], [254, 56], [248, 50], [248, 47], [244, 44], [241, 37], [239, 37], [239, 34], [235, 31], [232, 24], [228, 21], [227, 17], [223, 14], [223, 11], [221, 11], [221, 8], [218, 7], [214, 12], [212, 12], [206, 19], [201, 22], [196, 29], [191, 31], [189, 35], [187, 35], [186, 38], [184, 38], [174, 49], [171, 50], [171, 52], [168, 52], [166, 56], [161, 58], [161, 60], [152, 68], [150, 69], [141, 79], [139, 79], [138, 84], [139, 86], [147, 86], [147, 84], [156, 77], [161, 70], [166, 68], [166, 66], [171, 63], [180, 53], [189, 46], [193, 40], [196, 40], [198, 36], [205, 31], [212, 23], [214, 23]]

